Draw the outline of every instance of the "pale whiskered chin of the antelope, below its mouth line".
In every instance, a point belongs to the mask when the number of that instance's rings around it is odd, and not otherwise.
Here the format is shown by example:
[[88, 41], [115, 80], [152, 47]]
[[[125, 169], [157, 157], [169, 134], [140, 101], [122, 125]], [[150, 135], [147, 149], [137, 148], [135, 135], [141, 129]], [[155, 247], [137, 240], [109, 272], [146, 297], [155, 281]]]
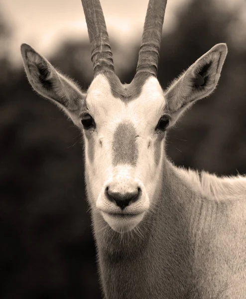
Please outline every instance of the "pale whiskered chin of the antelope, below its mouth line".
[[102, 212], [104, 220], [116, 232], [126, 233], [134, 229], [142, 220], [144, 213], [140, 214], [109, 214]]

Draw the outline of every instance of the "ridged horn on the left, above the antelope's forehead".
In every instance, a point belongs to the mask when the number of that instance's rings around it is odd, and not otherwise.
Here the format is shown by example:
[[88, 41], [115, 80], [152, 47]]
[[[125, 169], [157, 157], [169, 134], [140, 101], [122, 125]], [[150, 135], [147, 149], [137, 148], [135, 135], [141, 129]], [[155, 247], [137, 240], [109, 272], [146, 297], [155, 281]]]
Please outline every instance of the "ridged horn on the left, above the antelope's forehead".
[[98, 73], [115, 72], [113, 54], [100, 0], [82, 0], [91, 43], [94, 77]]

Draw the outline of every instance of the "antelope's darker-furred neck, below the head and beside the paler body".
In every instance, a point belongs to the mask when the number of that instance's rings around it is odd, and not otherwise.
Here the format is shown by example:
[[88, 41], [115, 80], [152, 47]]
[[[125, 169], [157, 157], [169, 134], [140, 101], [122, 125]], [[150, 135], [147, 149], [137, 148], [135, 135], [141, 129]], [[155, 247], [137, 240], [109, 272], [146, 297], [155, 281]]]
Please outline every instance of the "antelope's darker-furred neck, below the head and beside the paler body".
[[[182, 290], [187, 284], [193, 246], [189, 207], [194, 212], [194, 204], [189, 204], [187, 199], [193, 202], [196, 195], [186, 187], [166, 157], [162, 174], [162, 188], [155, 193], [157, 204], [133, 231], [121, 235], [93, 211], [106, 298], [179, 298], [173, 290]], [[177, 185], [179, 188], [174, 188]], [[163, 285], [161, 294], [156, 283]]]

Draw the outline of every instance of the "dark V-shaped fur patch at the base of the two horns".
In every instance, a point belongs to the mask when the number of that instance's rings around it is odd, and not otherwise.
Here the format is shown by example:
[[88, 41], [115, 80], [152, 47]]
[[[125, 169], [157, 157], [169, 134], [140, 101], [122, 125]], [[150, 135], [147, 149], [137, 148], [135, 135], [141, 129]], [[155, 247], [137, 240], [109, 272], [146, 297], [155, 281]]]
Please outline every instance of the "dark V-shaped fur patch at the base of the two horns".
[[134, 77], [130, 84], [122, 84], [115, 73], [107, 72], [104, 75], [108, 79], [112, 95], [125, 103], [140, 96], [142, 87], [150, 76], [147, 73], [141, 73]]

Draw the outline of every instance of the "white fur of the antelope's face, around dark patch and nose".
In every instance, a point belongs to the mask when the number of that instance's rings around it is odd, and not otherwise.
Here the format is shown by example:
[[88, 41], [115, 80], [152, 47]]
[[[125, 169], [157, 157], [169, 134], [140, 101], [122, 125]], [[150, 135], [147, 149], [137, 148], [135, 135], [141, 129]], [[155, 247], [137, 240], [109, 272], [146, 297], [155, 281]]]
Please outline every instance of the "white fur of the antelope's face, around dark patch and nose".
[[[163, 91], [157, 79], [149, 78], [145, 82], [140, 96], [125, 105], [120, 99], [116, 99], [112, 95], [107, 78], [100, 74], [92, 82], [86, 101], [88, 110], [97, 120], [97, 133], [94, 136], [95, 144], [99, 144], [101, 140], [104, 145], [103, 149], [100, 149], [100, 147], [95, 148], [93, 163], [89, 161], [86, 154], [88, 178], [93, 182], [94, 186], [92, 189], [94, 204], [103, 212], [120, 212], [119, 207], [109, 202], [105, 197], [106, 186], [110, 182], [114, 183], [117, 181], [119, 182], [119, 188], [121, 185], [127, 187], [131, 181], [136, 181], [137, 185], [141, 187], [142, 196], [137, 202], [126, 207], [125, 212], [143, 213], [147, 211], [150, 202], [154, 200], [152, 196], [159, 183], [158, 177], [161, 171], [161, 163], [159, 163], [157, 168], [154, 166], [154, 148], [147, 149], [148, 142], [153, 143], [156, 138], [153, 136], [154, 128], [165, 107]], [[146, 115], [146, 111], [148, 111], [148, 115]], [[113, 134], [118, 124], [127, 120], [134, 125], [139, 136], [137, 141], [137, 165], [136, 167], [127, 165], [113, 167]], [[87, 141], [85, 146], [87, 153], [90, 150]], [[122, 191], [124, 191], [123, 187]], [[111, 218], [104, 218], [107, 222], [109, 221], [108, 223], [111, 227], [117, 230], [117, 226]], [[139, 221], [141, 219], [142, 217], [138, 218]], [[134, 223], [136, 225], [138, 222], [135, 221]], [[129, 227], [133, 228], [130, 223]]]

